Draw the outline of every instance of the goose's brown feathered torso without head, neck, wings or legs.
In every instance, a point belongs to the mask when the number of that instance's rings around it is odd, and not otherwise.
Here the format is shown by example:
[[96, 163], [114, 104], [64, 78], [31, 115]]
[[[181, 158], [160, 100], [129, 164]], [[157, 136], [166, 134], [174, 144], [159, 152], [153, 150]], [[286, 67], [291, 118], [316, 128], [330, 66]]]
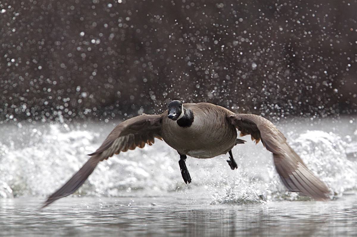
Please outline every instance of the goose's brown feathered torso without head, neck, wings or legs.
[[167, 112], [162, 116], [162, 138], [167, 145], [195, 158], [212, 158], [233, 148], [237, 129], [226, 116], [234, 113], [210, 103], [188, 103], [183, 107], [194, 114], [190, 127], [181, 127], [167, 118]]

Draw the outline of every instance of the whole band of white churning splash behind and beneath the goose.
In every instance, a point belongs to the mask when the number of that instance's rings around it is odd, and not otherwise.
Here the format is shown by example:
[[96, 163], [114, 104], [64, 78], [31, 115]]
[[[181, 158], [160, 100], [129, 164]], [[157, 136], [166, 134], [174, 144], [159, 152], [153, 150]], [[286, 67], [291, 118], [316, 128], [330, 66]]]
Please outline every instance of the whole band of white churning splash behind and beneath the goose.
[[[0, 197], [47, 196], [59, 188], [89, 158], [101, 142], [99, 133], [48, 125], [47, 132], [32, 129], [31, 142], [15, 148], [0, 144]], [[347, 159], [349, 145], [333, 133], [309, 131], [291, 146], [307, 166], [330, 187], [335, 196], [356, 189], [356, 162]], [[242, 153], [247, 153], [249, 156]], [[76, 194], [122, 196], [134, 190], [144, 195], [190, 190], [211, 196], [211, 203], [262, 203], [304, 200], [286, 191], [262, 147], [240, 145], [233, 150], [237, 170], [226, 156], [187, 159], [192, 183], [186, 186], [177, 164], [178, 155], [162, 141], [101, 162]], [[237, 154], [238, 153], [238, 154]], [[253, 159], [255, 158], [255, 160]], [[186, 191], [185, 191], [186, 190]]]

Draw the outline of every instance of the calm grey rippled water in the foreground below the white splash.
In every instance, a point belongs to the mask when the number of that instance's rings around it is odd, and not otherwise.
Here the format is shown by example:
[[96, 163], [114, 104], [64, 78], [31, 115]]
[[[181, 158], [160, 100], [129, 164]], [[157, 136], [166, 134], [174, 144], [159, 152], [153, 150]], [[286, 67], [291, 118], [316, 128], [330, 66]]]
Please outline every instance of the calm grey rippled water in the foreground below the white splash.
[[[132, 199], [135, 204], [128, 205]], [[4, 236], [306, 237], [357, 233], [355, 194], [328, 202], [251, 205], [209, 205], [208, 200], [192, 202], [174, 195], [69, 198], [44, 210], [37, 209], [38, 199], [2, 199], [0, 206]]]

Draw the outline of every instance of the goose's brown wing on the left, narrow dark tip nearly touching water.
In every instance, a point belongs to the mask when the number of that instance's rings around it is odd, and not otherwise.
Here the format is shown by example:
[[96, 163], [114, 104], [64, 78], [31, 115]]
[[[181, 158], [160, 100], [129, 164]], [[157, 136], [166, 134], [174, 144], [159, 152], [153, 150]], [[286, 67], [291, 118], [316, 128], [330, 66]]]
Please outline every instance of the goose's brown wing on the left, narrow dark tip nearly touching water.
[[161, 138], [161, 115], [139, 115], [117, 125], [102, 145], [92, 154], [92, 157], [66, 182], [44, 202], [45, 207], [61, 197], [74, 193], [93, 172], [99, 161], [108, 159], [121, 151], [134, 150], [137, 146], [152, 145], [154, 139]]

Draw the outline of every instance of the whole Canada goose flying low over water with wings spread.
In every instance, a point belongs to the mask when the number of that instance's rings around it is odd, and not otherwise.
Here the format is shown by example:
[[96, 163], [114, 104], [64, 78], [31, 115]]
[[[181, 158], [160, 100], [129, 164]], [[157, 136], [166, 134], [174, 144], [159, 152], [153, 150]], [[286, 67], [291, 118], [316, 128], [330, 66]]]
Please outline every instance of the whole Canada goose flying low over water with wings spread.
[[178, 164], [183, 180], [191, 182], [185, 160], [186, 155], [195, 158], [212, 158], [229, 153], [227, 160], [231, 169], [237, 164], [233, 159], [232, 148], [244, 143], [237, 139], [250, 134], [252, 140], [262, 141], [265, 148], [273, 153], [278, 174], [291, 192], [327, 199], [328, 188], [303, 163], [301, 158], [286, 143], [285, 136], [269, 120], [255, 114], [235, 114], [221, 106], [210, 103], [187, 103], [171, 101], [162, 114], [142, 114], [117, 125], [91, 158], [66, 182], [54, 192], [43, 207], [61, 197], [74, 193], [88, 178], [99, 161], [106, 160], [121, 151], [143, 148], [152, 145], [155, 138], [164, 140], [180, 155]]

